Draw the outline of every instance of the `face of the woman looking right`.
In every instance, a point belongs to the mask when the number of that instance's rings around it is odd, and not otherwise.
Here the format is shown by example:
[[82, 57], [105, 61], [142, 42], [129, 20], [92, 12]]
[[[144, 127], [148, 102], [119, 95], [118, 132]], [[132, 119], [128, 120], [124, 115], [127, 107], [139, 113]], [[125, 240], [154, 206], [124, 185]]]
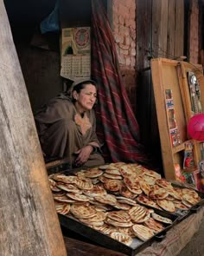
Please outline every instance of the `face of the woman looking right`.
[[97, 98], [96, 87], [91, 83], [86, 84], [80, 93], [73, 91], [73, 98], [76, 100], [75, 107], [80, 113], [91, 110]]

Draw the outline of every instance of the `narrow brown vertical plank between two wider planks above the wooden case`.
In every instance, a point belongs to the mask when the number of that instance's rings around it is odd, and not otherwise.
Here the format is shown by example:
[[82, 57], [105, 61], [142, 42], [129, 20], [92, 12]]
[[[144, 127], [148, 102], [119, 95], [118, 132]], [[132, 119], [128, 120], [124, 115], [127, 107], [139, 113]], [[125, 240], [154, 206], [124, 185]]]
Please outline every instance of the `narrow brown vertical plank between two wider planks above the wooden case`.
[[168, 2], [167, 57], [175, 58], [175, 0]]

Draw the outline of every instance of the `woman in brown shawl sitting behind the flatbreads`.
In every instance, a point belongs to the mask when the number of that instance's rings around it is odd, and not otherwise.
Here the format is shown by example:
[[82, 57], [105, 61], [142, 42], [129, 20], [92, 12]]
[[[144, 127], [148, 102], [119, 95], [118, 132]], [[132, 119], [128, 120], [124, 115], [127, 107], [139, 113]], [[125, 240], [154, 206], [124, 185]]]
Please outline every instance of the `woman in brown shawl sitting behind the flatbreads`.
[[95, 82], [73, 82], [71, 96], [59, 95], [38, 111], [35, 123], [47, 159], [68, 158], [73, 167], [104, 164], [92, 109], [96, 99]]

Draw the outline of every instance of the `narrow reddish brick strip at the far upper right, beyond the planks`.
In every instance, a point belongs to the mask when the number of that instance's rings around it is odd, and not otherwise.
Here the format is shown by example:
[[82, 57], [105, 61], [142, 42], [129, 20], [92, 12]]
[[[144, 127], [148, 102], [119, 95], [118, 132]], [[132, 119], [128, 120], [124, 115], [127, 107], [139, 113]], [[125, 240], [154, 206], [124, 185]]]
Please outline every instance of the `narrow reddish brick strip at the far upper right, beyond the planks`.
[[191, 0], [189, 16], [189, 62], [199, 61], [199, 5], [198, 0]]

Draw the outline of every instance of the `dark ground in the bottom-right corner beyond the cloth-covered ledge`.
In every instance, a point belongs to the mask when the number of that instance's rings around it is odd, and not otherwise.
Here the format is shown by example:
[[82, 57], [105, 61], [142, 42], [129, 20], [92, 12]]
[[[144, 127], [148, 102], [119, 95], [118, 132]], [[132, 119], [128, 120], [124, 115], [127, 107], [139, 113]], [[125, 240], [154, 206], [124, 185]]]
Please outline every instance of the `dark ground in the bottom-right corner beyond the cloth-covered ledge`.
[[194, 234], [192, 240], [182, 249], [178, 256], [203, 256], [204, 255], [204, 219], [200, 229]]

